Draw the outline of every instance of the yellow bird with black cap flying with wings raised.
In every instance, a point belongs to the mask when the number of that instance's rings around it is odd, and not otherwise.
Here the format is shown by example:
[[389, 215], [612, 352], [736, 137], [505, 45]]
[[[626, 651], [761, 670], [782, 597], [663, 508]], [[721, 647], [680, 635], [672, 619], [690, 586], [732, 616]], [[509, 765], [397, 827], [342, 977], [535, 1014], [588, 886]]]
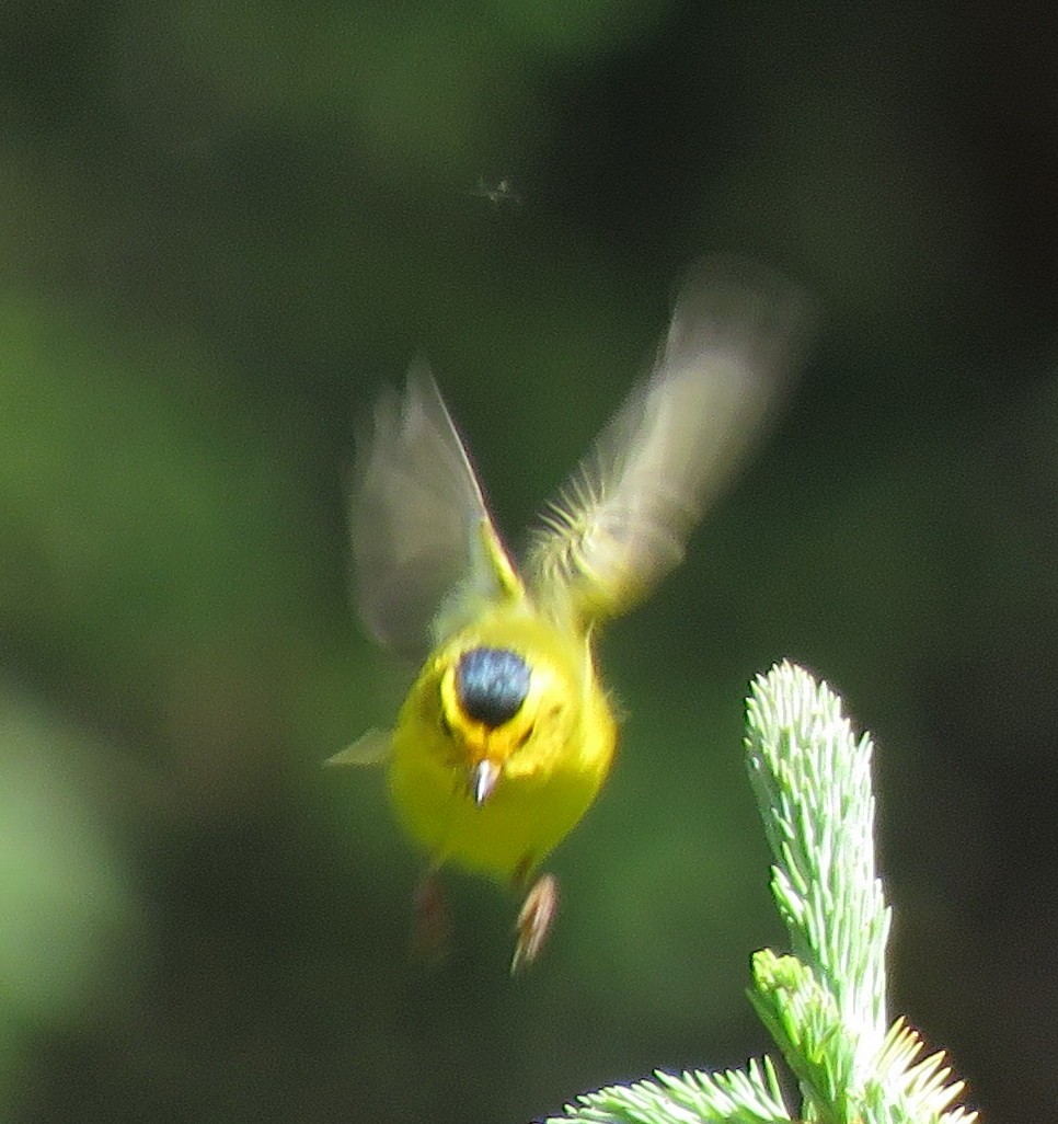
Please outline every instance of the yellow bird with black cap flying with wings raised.
[[381, 398], [352, 497], [358, 607], [421, 671], [393, 731], [331, 761], [387, 762], [396, 815], [429, 856], [428, 940], [441, 924], [434, 873], [453, 863], [528, 889], [512, 971], [536, 958], [557, 883], [531, 879], [613, 759], [599, 625], [680, 562], [788, 382], [803, 326], [785, 279], [740, 260], [700, 263], [653, 371], [545, 510], [520, 570], [426, 366], [403, 398]]

